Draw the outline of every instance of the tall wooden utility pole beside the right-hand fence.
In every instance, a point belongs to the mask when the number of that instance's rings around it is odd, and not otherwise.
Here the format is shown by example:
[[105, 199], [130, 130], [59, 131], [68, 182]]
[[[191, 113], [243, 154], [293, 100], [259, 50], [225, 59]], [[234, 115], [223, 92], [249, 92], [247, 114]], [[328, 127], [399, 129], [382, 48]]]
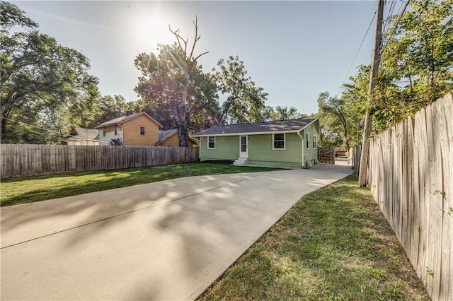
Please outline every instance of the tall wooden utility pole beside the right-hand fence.
[[365, 126], [363, 129], [362, 151], [360, 154], [359, 168], [359, 187], [367, 186], [367, 168], [369, 157], [369, 134], [371, 134], [372, 114], [370, 109], [374, 100], [374, 88], [377, 84], [377, 69], [379, 67], [379, 59], [381, 58], [381, 40], [382, 40], [382, 18], [384, 16], [384, 0], [377, 0], [377, 18], [376, 30], [374, 31], [374, 47], [373, 59], [371, 64], [371, 76], [369, 76], [368, 102], [367, 113], [365, 115]]

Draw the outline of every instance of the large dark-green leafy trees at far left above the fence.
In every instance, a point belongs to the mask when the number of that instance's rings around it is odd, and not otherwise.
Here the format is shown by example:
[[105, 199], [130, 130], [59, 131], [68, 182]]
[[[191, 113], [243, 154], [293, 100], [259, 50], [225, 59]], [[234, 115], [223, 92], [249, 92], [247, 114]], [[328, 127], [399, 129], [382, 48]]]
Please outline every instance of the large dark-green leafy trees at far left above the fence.
[[1, 1], [0, 9], [1, 143], [56, 142], [69, 120], [89, 124], [98, 79], [88, 74], [88, 59], [40, 33], [14, 4]]

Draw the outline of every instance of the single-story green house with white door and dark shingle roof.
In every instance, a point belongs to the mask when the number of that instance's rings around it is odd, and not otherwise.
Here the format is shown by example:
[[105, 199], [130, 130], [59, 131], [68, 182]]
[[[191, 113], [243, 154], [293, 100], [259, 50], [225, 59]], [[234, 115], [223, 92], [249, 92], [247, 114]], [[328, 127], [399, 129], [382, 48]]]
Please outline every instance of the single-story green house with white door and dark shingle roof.
[[318, 118], [213, 126], [192, 136], [200, 138], [201, 161], [292, 168], [318, 163]]

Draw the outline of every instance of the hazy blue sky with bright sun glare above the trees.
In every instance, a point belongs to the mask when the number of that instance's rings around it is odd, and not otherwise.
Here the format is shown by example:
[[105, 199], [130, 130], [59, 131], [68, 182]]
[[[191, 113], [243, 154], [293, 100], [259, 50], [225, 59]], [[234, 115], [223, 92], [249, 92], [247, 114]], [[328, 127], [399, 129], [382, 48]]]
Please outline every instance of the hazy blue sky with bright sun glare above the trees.
[[[319, 93], [337, 95], [376, 11], [367, 1], [11, 1], [42, 33], [91, 61], [102, 95], [137, 100], [137, 54], [171, 44], [168, 30], [193, 41], [205, 71], [239, 56], [248, 76], [269, 93], [266, 105], [318, 111]], [[374, 23], [349, 76], [372, 59]], [[222, 102], [222, 95], [220, 101]]]

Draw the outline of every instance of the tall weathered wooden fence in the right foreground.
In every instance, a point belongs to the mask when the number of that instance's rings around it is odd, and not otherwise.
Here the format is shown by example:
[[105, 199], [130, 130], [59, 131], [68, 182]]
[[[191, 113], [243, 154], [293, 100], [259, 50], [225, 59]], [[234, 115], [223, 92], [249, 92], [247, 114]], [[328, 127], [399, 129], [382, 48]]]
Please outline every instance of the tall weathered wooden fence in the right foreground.
[[453, 99], [370, 141], [369, 187], [432, 300], [453, 300]]

